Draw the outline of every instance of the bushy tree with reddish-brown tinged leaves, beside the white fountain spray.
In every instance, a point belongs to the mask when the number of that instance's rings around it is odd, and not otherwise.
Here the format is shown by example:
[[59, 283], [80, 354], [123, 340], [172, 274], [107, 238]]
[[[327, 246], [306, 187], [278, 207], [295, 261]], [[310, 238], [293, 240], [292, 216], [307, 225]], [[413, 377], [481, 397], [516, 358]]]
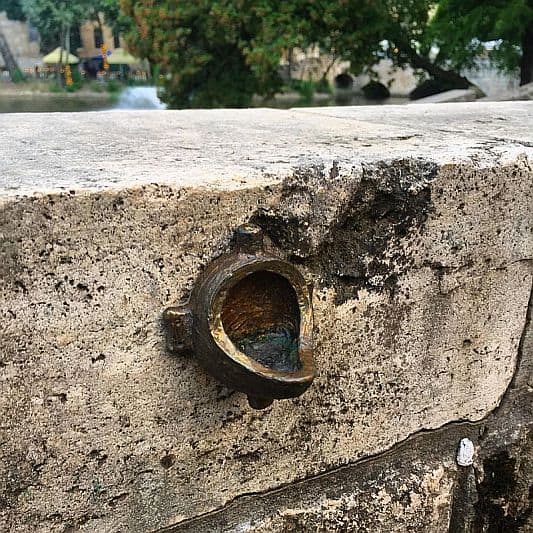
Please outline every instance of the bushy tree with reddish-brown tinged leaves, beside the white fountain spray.
[[[244, 48], [260, 21], [241, 9], [248, 2], [122, 0], [134, 21], [133, 53], [160, 65], [170, 107], [243, 107], [254, 93], [280, 86], [275, 71], [250, 64]], [[268, 71], [268, 74], [265, 72]]]

